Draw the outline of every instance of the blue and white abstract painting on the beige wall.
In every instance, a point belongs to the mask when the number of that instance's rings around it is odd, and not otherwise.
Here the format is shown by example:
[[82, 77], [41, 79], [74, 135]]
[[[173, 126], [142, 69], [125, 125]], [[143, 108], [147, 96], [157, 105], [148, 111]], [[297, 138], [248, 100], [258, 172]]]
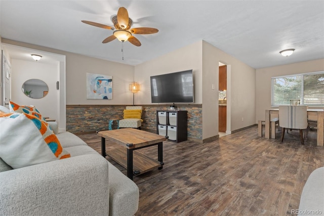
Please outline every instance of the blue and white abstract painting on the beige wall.
[[87, 73], [87, 99], [112, 100], [112, 76]]

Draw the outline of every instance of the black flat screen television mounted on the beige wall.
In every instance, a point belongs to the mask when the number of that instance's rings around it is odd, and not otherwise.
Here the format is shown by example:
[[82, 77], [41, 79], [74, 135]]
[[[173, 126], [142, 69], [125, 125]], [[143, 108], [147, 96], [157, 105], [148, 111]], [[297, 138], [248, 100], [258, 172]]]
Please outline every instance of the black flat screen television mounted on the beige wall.
[[151, 77], [152, 103], [193, 102], [192, 69]]

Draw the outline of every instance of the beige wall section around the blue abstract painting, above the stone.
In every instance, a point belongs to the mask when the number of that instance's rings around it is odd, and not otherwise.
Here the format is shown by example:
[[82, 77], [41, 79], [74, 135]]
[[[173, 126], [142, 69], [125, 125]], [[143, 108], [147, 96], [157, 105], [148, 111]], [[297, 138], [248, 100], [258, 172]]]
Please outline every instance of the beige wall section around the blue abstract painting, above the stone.
[[[132, 104], [128, 84], [133, 81], [134, 66], [78, 55], [47, 47], [2, 39], [2, 43], [57, 53], [66, 56], [66, 104]], [[63, 65], [64, 66], [64, 65]], [[86, 73], [110, 75], [113, 79], [113, 99], [86, 98]]]

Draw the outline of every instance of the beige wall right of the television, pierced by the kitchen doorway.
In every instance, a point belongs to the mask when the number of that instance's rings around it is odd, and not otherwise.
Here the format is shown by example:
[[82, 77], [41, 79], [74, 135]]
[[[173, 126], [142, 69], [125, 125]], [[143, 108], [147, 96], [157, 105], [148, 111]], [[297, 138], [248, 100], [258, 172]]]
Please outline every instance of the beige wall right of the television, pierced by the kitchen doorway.
[[[218, 62], [229, 68], [227, 72], [227, 115], [230, 131], [255, 124], [255, 69], [203, 43], [203, 131], [204, 138], [218, 131]], [[211, 85], [215, 84], [215, 90]], [[242, 121], [243, 118], [243, 121]], [[218, 134], [218, 132], [216, 133]]]

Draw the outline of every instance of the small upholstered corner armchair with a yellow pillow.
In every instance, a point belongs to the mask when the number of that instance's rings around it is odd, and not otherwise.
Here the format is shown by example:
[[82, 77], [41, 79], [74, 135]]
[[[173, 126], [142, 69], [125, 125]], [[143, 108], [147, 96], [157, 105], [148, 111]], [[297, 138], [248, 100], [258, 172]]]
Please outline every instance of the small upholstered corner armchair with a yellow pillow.
[[139, 128], [142, 126], [142, 106], [126, 106], [124, 118], [119, 120], [119, 128]]

